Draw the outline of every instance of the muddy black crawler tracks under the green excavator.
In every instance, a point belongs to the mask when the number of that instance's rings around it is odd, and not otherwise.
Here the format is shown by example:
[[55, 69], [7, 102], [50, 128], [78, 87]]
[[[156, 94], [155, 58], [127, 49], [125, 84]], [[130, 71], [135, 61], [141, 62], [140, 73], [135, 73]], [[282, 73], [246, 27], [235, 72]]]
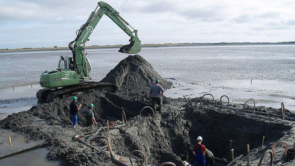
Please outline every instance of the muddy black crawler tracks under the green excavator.
[[68, 96], [87, 94], [90, 92], [116, 92], [117, 86], [111, 83], [87, 82], [82, 85], [57, 88], [44, 88], [37, 92], [36, 96], [40, 100], [47, 100], [48, 102], [60, 100]]

